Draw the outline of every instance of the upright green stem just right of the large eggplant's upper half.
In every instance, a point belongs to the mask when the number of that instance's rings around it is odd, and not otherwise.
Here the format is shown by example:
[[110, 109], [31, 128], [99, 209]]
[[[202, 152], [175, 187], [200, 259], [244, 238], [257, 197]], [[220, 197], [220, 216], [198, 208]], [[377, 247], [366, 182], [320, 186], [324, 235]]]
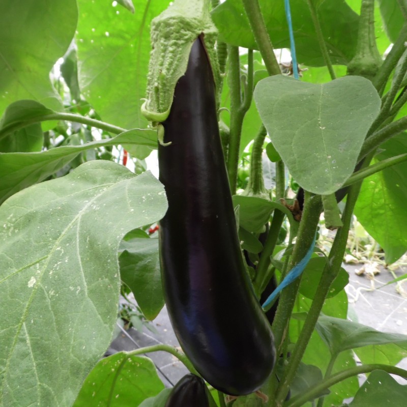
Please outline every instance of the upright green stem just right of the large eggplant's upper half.
[[244, 114], [242, 114], [242, 93], [240, 86], [239, 48], [228, 47], [229, 54], [229, 89], [230, 89], [230, 138], [227, 154], [227, 173], [231, 194], [236, 194], [237, 173], [239, 163], [240, 136]]

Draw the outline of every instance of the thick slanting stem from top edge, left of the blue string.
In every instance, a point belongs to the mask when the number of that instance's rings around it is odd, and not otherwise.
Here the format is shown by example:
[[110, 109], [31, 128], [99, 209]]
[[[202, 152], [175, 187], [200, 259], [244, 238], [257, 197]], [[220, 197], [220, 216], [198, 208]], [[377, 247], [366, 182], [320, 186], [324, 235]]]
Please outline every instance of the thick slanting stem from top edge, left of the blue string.
[[258, 49], [263, 57], [267, 72], [270, 76], [281, 74], [274, 48], [267, 32], [266, 24], [261, 15], [258, 0], [243, 0], [243, 6], [254, 34]]

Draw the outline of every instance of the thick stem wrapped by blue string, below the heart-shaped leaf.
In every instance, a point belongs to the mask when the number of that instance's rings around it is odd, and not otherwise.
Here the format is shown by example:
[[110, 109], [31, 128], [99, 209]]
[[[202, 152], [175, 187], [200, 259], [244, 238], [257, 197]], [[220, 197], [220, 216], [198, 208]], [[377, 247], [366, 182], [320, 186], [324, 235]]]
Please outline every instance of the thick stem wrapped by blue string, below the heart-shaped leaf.
[[[290, 259], [289, 269], [294, 267], [305, 256], [311, 246], [315, 230], [319, 222], [319, 215], [322, 211], [321, 196], [309, 196], [306, 193], [304, 212], [298, 229], [297, 242], [294, 246]], [[280, 300], [273, 322], [273, 333], [276, 344], [277, 355], [280, 355], [285, 339], [289, 317], [293, 312], [293, 307], [297, 297], [298, 287], [301, 278], [284, 288], [280, 295]], [[284, 396], [285, 397], [285, 396]]]

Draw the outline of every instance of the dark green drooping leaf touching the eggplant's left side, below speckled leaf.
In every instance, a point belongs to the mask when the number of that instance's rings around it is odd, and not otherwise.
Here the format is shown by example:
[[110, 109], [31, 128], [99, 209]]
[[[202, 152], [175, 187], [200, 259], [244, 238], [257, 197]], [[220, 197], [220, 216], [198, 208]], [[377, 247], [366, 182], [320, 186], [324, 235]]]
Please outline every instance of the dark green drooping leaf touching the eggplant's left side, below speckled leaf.
[[120, 276], [132, 290], [137, 304], [148, 319], [154, 319], [164, 306], [161, 286], [158, 239], [133, 238], [122, 241]]

